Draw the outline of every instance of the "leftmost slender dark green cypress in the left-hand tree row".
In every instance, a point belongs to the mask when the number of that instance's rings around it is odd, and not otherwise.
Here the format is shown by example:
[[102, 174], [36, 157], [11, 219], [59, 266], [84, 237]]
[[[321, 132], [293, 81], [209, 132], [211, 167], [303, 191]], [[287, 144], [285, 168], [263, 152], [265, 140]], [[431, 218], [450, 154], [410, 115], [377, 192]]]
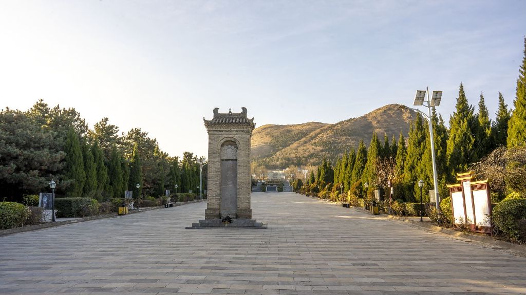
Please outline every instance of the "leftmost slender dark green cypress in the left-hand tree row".
[[68, 197], [82, 197], [86, 173], [84, 171], [84, 160], [80, 142], [73, 129], [69, 129], [64, 145], [66, 152], [66, 178], [71, 181], [66, 195]]

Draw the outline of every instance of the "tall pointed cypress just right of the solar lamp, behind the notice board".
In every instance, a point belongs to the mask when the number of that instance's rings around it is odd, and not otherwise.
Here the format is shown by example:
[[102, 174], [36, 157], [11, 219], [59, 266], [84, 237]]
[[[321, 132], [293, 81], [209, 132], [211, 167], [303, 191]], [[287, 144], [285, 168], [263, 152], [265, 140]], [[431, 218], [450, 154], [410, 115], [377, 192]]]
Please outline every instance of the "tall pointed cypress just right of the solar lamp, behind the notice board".
[[449, 119], [449, 139], [447, 142], [448, 182], [456, 179], [457, 173], [467, 172], [468, 166], [478, 160], [473, 134], [474, 109], [468, 104], [464, 87], [460, 83], [456, 111]]

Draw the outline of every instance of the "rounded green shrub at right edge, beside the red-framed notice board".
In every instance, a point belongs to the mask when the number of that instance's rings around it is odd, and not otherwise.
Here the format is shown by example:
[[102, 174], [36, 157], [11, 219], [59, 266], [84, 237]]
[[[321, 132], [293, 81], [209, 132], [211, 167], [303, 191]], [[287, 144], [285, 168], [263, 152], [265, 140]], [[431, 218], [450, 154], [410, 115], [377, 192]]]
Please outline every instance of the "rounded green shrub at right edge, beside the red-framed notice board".
[[504, 199], [493, 209], [493, 225], [510, 240], [526, 240], [524, 220], [526, 220], [526, 198]]

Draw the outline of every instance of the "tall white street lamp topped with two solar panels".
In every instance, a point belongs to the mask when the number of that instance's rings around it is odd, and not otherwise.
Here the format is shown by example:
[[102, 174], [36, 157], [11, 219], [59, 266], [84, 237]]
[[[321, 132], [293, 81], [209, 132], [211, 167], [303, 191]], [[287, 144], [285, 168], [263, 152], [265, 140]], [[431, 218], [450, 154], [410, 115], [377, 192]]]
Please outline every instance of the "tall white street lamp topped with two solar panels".
[[[426, 93], [427, 93], [427, 101], [424, 101], [426, 99]], [[434, 201], [436, 202], [436, 208], [437, 208], [437, 219], [440, 220], [440, 209], [439, 209], [439, 203], [440, 203], [440, 196], [438, 194], [438, 178], [437, 178], [437, 163], [434, 159], [434, 140], [433, 140], [433, 123], [431, 121], [431, 108], [440, 106], [440, 100], [442, 99], [442, 91], [433, 91], [432, 97], [429, 98], [429, 87], [426, 88], [426, 90], [417, 90], [417, 94], [414, 96], [414, 102], [413, 106], [424, 106], [428, 108], [429, 115], [426, 113], [420, 111], [419, 109], [413, 109], [408, 108], [406, 106], [400, 106], [402, 109], [410, 109], [413, 111], [418, 112], [422, 115], [427, 121], [429, 125], [429, 140], [431, 142], [431, 160], [433, 162], [433, 185], [434, 185]], [[424, 105], [423, 103], [426, 102]]]

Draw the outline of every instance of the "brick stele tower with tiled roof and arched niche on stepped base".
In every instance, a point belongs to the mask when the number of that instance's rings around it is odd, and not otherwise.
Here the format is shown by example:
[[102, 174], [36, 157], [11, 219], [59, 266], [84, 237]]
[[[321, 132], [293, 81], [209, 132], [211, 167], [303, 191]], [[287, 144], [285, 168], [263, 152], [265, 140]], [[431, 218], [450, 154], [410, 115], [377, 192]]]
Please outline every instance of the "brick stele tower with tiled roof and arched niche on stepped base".
[[250, 136], [256, 124], [240, 113], [219, 113], [205, 121], [208, 131], [208, 192], [205, 219], [187, 228], [266, 228], [250, 208]]

